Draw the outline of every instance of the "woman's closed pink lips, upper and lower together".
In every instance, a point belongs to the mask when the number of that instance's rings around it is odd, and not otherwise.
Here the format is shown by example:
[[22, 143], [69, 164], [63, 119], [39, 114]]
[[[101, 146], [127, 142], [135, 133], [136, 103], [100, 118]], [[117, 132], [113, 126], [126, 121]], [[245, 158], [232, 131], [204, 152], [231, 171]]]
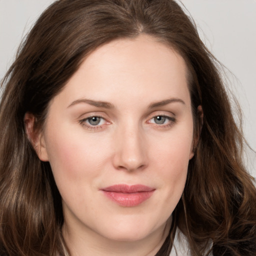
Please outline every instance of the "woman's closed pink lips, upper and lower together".
[[116, 184], [101, 189], [109, 199], [121, 206], [136, 206], [148, 199], [154, 188], [145, 185]]

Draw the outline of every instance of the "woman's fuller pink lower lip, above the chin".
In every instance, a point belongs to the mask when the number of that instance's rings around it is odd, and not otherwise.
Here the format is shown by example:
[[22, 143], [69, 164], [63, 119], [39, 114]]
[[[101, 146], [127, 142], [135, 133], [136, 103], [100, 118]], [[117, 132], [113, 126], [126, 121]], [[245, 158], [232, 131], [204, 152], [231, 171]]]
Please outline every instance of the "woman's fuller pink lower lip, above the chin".
[[153, 192], [154, 190], [134, 193], [122, 193], [103, 190], [104, 195], [106, 195], [109, 199], [121, 206], [126, 207], [139, 205], [140, 203], [148, 199], [153, 194]]

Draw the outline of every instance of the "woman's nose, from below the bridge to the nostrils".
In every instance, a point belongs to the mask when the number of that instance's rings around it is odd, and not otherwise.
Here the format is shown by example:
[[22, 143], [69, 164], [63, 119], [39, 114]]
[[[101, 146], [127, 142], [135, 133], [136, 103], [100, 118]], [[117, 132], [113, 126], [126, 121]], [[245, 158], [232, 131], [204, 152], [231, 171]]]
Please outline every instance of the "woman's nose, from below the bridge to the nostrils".
[[144, 169], [148, 165], [148, 147], [142, 128], [129, 125], [119, 129], [114, 141], [113, 165], [116, 169], [134, 171]]

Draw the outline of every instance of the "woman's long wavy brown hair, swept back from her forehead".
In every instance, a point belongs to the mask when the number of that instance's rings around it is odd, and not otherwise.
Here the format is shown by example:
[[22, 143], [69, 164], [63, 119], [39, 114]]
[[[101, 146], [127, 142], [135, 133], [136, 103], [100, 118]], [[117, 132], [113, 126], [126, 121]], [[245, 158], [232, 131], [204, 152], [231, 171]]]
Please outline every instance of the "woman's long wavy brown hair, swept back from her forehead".
[[58, 0], [39, 17], [1, 83], [0, 255], [68, 255], [61, 197], [49, 163], [38, 159], [26, 136], [24, 114], [31, 112], [34, 129], [41, 129], [49, 101], [86, 55], [141, 33], [184, 58], [196, 138], [170, 235], [157, 255], [169, 254], [177, 226], [192, 255], [255, 253], [256, 190], [243, 166], [242, 133], [218, 63], [191, 18], [173, 0]]

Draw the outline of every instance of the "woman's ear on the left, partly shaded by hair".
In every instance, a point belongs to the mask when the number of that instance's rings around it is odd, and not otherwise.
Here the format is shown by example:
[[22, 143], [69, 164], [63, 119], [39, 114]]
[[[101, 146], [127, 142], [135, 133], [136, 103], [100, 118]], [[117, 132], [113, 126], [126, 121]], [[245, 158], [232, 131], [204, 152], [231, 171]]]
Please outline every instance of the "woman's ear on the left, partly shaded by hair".
[[26, 112], [24, 115], [24, 124], [27, 138], [32, 144], [38, 158], [41, 161], [48, 161], [44, 136], [42, 131], [35, 129], [35, 122], [36, 117], [32, 113]]

